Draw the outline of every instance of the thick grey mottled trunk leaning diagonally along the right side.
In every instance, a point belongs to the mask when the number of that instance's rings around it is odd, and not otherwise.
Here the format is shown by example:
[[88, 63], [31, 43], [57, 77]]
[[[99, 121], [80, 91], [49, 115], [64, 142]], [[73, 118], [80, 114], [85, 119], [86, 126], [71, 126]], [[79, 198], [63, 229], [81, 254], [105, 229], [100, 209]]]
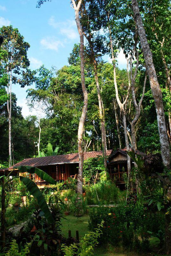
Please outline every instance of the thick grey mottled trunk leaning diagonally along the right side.
[[160, 137], [160, 147], [161, 147], [161, 156], [163, 160], [163, 164], [169, 166], [170, 164], [170, 149], [169, 149], [169, 142], [167, 137], [167, 129], [165, 123], [165, 116], [164, 116], [164, 107], [163, 107], [163, 100], [162, 100], [162, 92], [160, 89], [160, 85], [157, 80], [156, 71], [154, 68], [154, 63], [152, 60], [152, 52], [150, 50], [147, 37], [145, 34], [145, 29], [143, 26], [143, 21], [141, 14], [139, 12], [138, 2], [137, 0], [132, 1], [132, 10], [134, 14], [134, 20], [138, 29], [138, 34], [140, 38], [141, 47], [144, 53], [147, 74], [150, 81], [150, 86], [152, 90], [152, 95], [155, 102], [156, 113], [157, 113], [157, 122], [158, 122], [158, 129], [159, 129], [159, 137]]

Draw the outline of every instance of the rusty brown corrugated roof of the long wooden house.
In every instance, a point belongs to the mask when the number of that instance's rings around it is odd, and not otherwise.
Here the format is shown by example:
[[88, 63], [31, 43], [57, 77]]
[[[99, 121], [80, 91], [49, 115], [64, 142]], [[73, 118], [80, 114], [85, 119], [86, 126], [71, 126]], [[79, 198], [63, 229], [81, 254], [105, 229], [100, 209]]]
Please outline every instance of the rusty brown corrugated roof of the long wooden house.
[[[107, 150], [107, 156], [110, 156], [112, 153], [111, 150]], [[94, 158], [97, 156], [102, 156], [102, 151], [91, 151], [84, 153], [84, 159], [87, 158]], [[58, 156], [44, 156], [44, 157], [37, 157], [37, 158], [28, 158], [24, 159], [23, 161], [13, 165], [10, 169], [13, 169], [14, 167], [17, 167], [19, 165], [29, 165], [29, 166], [44, 166], [44, 165], [50, 165], [50, 164], [63, 164], [63, 163], [78, 163], [79, 162], [79, 156], [78, 153], [74, 154], [67, 154], [67, 155], [58, 155]]]

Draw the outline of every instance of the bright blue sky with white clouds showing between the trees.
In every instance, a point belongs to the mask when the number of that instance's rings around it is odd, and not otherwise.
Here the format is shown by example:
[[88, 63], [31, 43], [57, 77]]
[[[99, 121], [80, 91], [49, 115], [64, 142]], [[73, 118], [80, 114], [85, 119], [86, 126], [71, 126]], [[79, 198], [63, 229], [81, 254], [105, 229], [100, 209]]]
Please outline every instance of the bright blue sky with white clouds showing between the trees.
[[[12, 25], [18, 28], [25, 41], [30, 44], [28, 57], [30, 68], [39, 68], [42, 64], [47, 68], [57, 69], [68, 64], [68, 57], [73, 45], [79, 42], [75, 23], [74, 10], [70, 0], [52, 0], [36, 8], [37, 0], [1, 0], [0, 27]], [[105, 57], [109, 60], [108, 56]], [[123, 53], [118, 56], [118, 66], [125, 68]], [[13, 85], [18, 105], [22, 107], [23, 116], [37, 114], [29, 111], [26, 105], [26, 88]]]

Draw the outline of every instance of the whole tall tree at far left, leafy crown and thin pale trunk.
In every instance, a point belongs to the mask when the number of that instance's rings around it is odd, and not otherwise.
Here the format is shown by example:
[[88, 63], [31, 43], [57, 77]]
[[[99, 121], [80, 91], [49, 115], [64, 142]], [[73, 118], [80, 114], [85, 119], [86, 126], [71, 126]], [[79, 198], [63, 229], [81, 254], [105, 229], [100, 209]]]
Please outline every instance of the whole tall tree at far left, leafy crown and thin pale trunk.
[[9, 119], [9, 166], [12, 164], [11, 153], [11, 92], [12, 84], [19, 84], [21, 87], [30, 85], [34, 80], [34, 72], [28, 69], [30, 62], [27, 58], [27, 51], [30, 45], [24, 41], [24, 37], [20, 35], [17, 28], [12, 26], [3, 26], [0, 33], [4, 36], [2, 50], [7, 52], [7, 58], [2, 61], [4, 72], [8, 76], [7, 84], [7, 110]]

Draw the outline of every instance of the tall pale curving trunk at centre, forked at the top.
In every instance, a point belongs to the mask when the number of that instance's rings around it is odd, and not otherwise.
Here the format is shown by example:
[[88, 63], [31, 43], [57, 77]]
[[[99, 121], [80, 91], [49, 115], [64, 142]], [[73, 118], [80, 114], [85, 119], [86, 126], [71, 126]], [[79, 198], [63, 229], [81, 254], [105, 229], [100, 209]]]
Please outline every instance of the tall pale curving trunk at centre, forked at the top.
[[88, 94], [85, 86], [85, 74], [84, 74], [84, 34], [81, 28], [80, 19], [79, 19], [79, 9], [81, 6], [82, 0], [78, 1], [78, 5], [74, 0], [72, 4], [75, 10], [75, 19], [77, 23], [78, 33], [80, 37], [80, 59], [81, 59], [81, 85], [84, 95], [84, 106], [82, 109], [82, 115], [79, 121], [78, 126], [78, 155], [79, 155], [79, 168], [78, 168], [78, 179], [77, 179], [77, 193], [82, 195], [83, 193], [83, 162], [84, 162], [84, 150], [82, 148], [82, 139], [83, 139], [83, 129], [85, 124], [85, 119], [87, 116], [87, 105], [88, 105]]

